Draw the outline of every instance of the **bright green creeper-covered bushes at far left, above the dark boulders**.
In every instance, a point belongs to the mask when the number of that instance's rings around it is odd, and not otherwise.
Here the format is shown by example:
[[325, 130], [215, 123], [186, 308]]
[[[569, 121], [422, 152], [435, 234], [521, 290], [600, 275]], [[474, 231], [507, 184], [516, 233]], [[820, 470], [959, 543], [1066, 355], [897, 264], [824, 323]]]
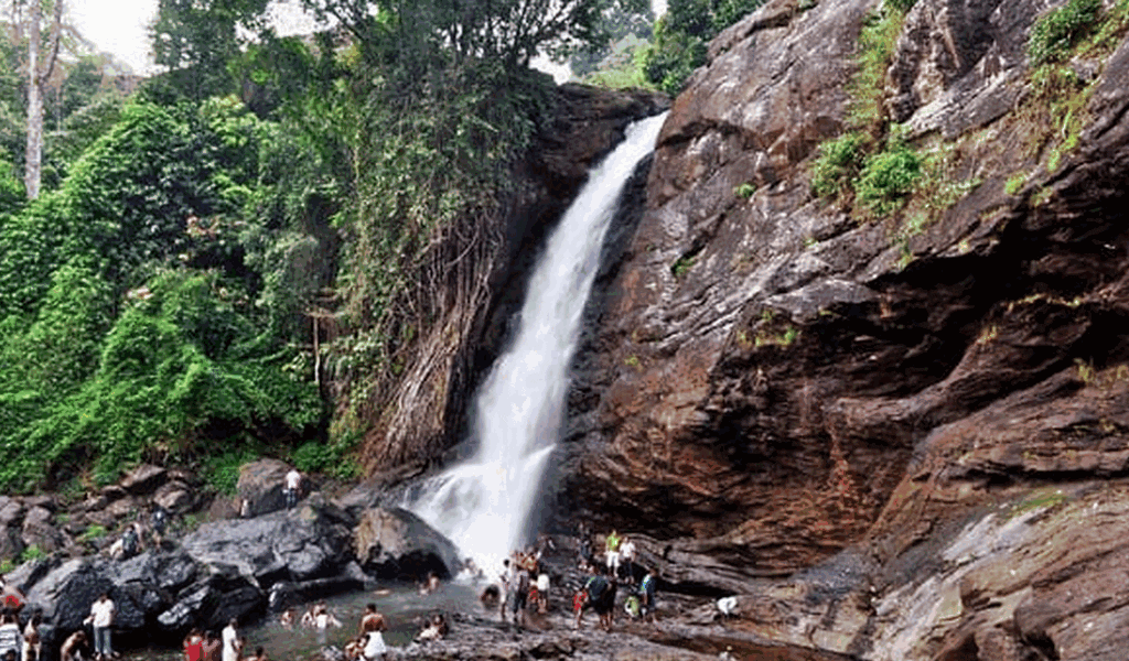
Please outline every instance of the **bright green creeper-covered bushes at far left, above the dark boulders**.
[[317, 389], [243, 258], [240, 232], [279, 224], [254, 204], [272, 196], [270, 134], [231, 100], [138, 102], [0, 223], [0, 484], [105, 482], [316, 429]]

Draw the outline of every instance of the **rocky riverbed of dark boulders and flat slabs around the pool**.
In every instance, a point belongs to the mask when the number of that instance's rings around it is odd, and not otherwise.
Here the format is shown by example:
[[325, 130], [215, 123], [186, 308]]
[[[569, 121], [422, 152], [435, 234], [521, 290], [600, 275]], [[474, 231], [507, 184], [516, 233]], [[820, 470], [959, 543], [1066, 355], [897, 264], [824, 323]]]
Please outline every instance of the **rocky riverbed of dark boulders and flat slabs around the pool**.
[[[549, 537], [544, 556], [553, 583], [549, 611], [532, 614], [525, 626], [501, 623], [496, 611], [483, 610], [473, 599], [478, 587], [458, 588], [458, 593], [472, 598], [419, 597], [419, 603], [408, 603], [405, 599], [412, 601], [413, 596], [403, 585], [414, 585], [411, 581], [428, 571], [449, 578], [457, 567], [450, 543], [411, 513], [382, 508], [382, 492], [364, 486], [340, 497], [314, 492], [286, 510], [279, 490], [286, 470], [273, 460], [247, 465], [238, 495], [213, 502], [200, 495], [201, 485], [187, 475], [151, 466], [70, 504], [55, 496], [5, 497], [0, 512], [7, 514], [3, 531], [9, 541], [38, 549], [23, 550], [34, 557], [6, 578], [25, 593], [24, 614], [44, 617], [44, 658], [56, 658], [61, 641], [84, 627], [90, 603], [106, 591], [117, 607], [117, 647], [145, 656], [161, 649], [175, 654], [192, 626], [219, 631], [236, 618], [250, 627], [273, 627], [275, 615], [289, 606], [351, 594], [340, 598], [387, 605], [390, 619], [402, 631], [414, 626], [414, 620], [400, 622], [411, 617], [406, 614], [441, 605], [450, 634], [443, 641], [397, 645], [395, 659], [689, 660], [716, 658], [727, 647], [737, 658], [843, 659], [734, 629], [720, 618], [714, 596], [684, 593], [684, 587], [674, 582], [663, 585], [657, 623], [627, 618], [624, 588], [613, 632], [598, 629], [594, 615], [587, 615], [577, 629], [571, 596], [585, 575], [575, 562], [577, 540], [569, 536]], [[151, 503], [168, 506], [173, 531], [133, 557], [108, 557], [119, 532], [143, 520], [141, 514]], [[646, 548], [653, 546], [646, 538], [641, 541]], [[645, 549], [645, 555], [650, 552]], [[401, 585], [395, 598], [376, 591], [390, 585]], [[338, 655], [330, 645], [307, 658]]]

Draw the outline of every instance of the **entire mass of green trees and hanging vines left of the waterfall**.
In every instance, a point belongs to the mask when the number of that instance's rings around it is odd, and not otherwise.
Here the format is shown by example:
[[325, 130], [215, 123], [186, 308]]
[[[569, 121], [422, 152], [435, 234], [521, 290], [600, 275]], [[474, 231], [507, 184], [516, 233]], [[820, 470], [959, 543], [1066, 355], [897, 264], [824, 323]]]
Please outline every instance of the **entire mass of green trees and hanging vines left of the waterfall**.
[[548, 99], [528, 61], [598, 42], [614, 3], [304, 0], [336, 27], [280, 38], [263, 0], [161, 0], [166, 73], [132, 97], [95, 60], [53, 82], [29, 204], [0, 67], [0, 487], [156, 461], [228, 490], [263, 452], [350, 475], [473, 280], [447, 239], [487, 245], [514, 193]]

